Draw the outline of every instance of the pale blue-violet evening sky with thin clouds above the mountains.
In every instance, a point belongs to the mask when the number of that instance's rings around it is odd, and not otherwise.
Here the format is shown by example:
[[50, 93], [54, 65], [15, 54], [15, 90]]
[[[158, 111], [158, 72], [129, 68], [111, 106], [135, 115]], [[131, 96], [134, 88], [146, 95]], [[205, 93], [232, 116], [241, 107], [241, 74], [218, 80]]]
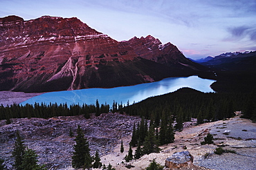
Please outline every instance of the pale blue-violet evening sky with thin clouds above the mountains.
[[256, 50], [256, 0], [0, 0], [0, 17], [77, 17], [118, 41], [152, 35], [199, 59]]

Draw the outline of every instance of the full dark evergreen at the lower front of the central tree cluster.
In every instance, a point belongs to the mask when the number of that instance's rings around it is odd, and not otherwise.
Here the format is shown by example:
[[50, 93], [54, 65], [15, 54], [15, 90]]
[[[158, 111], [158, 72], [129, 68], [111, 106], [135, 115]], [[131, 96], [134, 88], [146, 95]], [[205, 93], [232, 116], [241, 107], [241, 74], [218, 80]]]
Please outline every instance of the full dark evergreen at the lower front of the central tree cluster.
[[149, 154], [153, 152], [158, 153], [160, 151], [158, 148], [158, 140], [156, 140], [156, 136], [154, 135], [154, 126], [149, 127], [149, 132], [147, 133], [143, 145], [143, 154]]

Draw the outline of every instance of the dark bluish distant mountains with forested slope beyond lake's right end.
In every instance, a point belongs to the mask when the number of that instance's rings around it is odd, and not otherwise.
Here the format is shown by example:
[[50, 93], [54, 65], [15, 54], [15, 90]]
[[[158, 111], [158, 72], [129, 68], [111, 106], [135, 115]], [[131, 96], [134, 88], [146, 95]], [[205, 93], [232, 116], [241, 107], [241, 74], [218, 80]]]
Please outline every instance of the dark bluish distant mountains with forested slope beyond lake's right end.
[[211, 88], [218, 93], [251, 93], [256, 87], [256, 51], [223, 53], [201, 63], [213, 70], [217, 82]]

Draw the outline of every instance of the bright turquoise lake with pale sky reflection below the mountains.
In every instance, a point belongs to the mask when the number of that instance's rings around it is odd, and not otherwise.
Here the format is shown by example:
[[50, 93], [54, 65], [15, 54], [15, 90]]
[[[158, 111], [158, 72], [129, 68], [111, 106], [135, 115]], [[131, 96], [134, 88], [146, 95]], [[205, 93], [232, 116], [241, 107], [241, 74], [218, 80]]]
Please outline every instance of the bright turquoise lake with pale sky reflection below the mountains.
[[165, 93], [170, 93], [176, 91], [182, 87], [194, 88], [202, 92], [214, 92], [210, 88], [210, 84], [215, 82], [211, 79], [201, 79], [197, 76], [190, 77], [171, 77], [163, 79], [159, 82], [152, 82], [147, 84], [138, 84], [135, 86], [124, 86], [116, 88], [89, 88], [76, 91], [58, 91], [44, 93], [43, 95], [38, 95], [36, 97], [30, 98], [21, 104], [35, 104], [46, 103], [49, 104], [57, 102], [57, 104], [67, 103], [69, 104], [95, 104], [98, 99], [100, 104], [112, 104], [113, 100], [122, 102], [126, 104], [140, 102], [147, 97], [152, 97], [155, 95], [163, 95]]

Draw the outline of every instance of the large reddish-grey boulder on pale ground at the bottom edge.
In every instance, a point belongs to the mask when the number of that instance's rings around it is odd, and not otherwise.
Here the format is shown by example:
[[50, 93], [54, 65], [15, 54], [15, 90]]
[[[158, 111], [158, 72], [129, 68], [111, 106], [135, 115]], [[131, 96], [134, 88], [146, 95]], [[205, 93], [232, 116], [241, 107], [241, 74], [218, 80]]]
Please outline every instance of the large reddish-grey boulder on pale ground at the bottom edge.
[[187, 167], [188, 164], [192, 164], [193, 159], [189, 151], [174, 153], [170, 158], [165, 160], [165, 167], [170, 169]]

